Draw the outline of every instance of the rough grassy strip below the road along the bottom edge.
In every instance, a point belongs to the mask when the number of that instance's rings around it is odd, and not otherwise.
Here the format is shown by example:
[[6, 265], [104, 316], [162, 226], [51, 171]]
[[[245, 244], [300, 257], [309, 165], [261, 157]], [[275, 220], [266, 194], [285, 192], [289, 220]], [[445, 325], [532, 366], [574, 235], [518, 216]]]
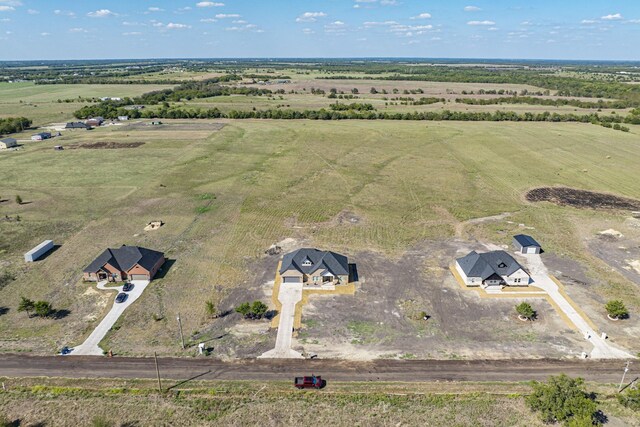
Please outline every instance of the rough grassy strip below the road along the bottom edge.
[[[165, 380], [171, 390], [160, 395], [148, 380], [2, 380], [7, 391], [0, 394], [0, 415], [26, 425], [61, 419], [78, 425], [249, 425], [256, 419], [290, 425], [305, 412], [336, 426], [421, 425], [426, 419], [434, 425], [545, 425], [525, 404], [530, 387], [514, 382], [331, 382], [321, 391], [299, 391], [282, 381], [256, 393], [255, 384], [243, 381]], [[618, 404], [613, 386], [587, 387], [609, 423], [640, 425], [637, 413]]]

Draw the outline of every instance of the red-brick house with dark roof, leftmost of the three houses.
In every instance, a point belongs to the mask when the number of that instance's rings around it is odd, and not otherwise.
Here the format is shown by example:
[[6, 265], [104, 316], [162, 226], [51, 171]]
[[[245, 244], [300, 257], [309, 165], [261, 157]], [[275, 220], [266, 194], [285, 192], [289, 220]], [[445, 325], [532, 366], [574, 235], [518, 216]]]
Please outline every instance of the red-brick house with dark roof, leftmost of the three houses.
[[151, 280], [165, 258], [162, 252], [139, 246], [106, 249], [84, 269], [84, 280], [90, 282], [121, 282], [123, 280]]

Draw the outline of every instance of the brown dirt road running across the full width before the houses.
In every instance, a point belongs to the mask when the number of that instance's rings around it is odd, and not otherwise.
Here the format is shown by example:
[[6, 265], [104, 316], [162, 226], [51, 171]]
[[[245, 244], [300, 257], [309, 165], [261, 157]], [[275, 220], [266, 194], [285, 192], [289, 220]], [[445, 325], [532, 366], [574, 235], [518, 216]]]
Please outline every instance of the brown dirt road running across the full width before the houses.
[[[375, 360], [247, 359], [222, 362], [205, 358], [160, 358], [165, 379], [290, 380], [316, 374], [330, 381], [529, 381], [566, 373], [588, 381], [617, 384], [621, 360]], [[627, 378], [640, 373], [631, 365]], [[0, 356], [0, 377], [155, 378], [153, 358], [98, 356]]]

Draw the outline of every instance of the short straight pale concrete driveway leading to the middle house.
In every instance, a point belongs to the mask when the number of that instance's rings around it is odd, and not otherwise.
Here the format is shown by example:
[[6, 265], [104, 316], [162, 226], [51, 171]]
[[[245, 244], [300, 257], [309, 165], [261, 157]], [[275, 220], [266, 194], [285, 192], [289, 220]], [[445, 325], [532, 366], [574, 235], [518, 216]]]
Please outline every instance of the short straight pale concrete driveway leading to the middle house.
[[278, 301], [282, 303], [276, 348], [258, 356], [265, 359], [303, 359], [302, 354], [291, 349], [293, 318], [296, 304], [302, 301], [302, 283], [282, 283], [278, 293]]

